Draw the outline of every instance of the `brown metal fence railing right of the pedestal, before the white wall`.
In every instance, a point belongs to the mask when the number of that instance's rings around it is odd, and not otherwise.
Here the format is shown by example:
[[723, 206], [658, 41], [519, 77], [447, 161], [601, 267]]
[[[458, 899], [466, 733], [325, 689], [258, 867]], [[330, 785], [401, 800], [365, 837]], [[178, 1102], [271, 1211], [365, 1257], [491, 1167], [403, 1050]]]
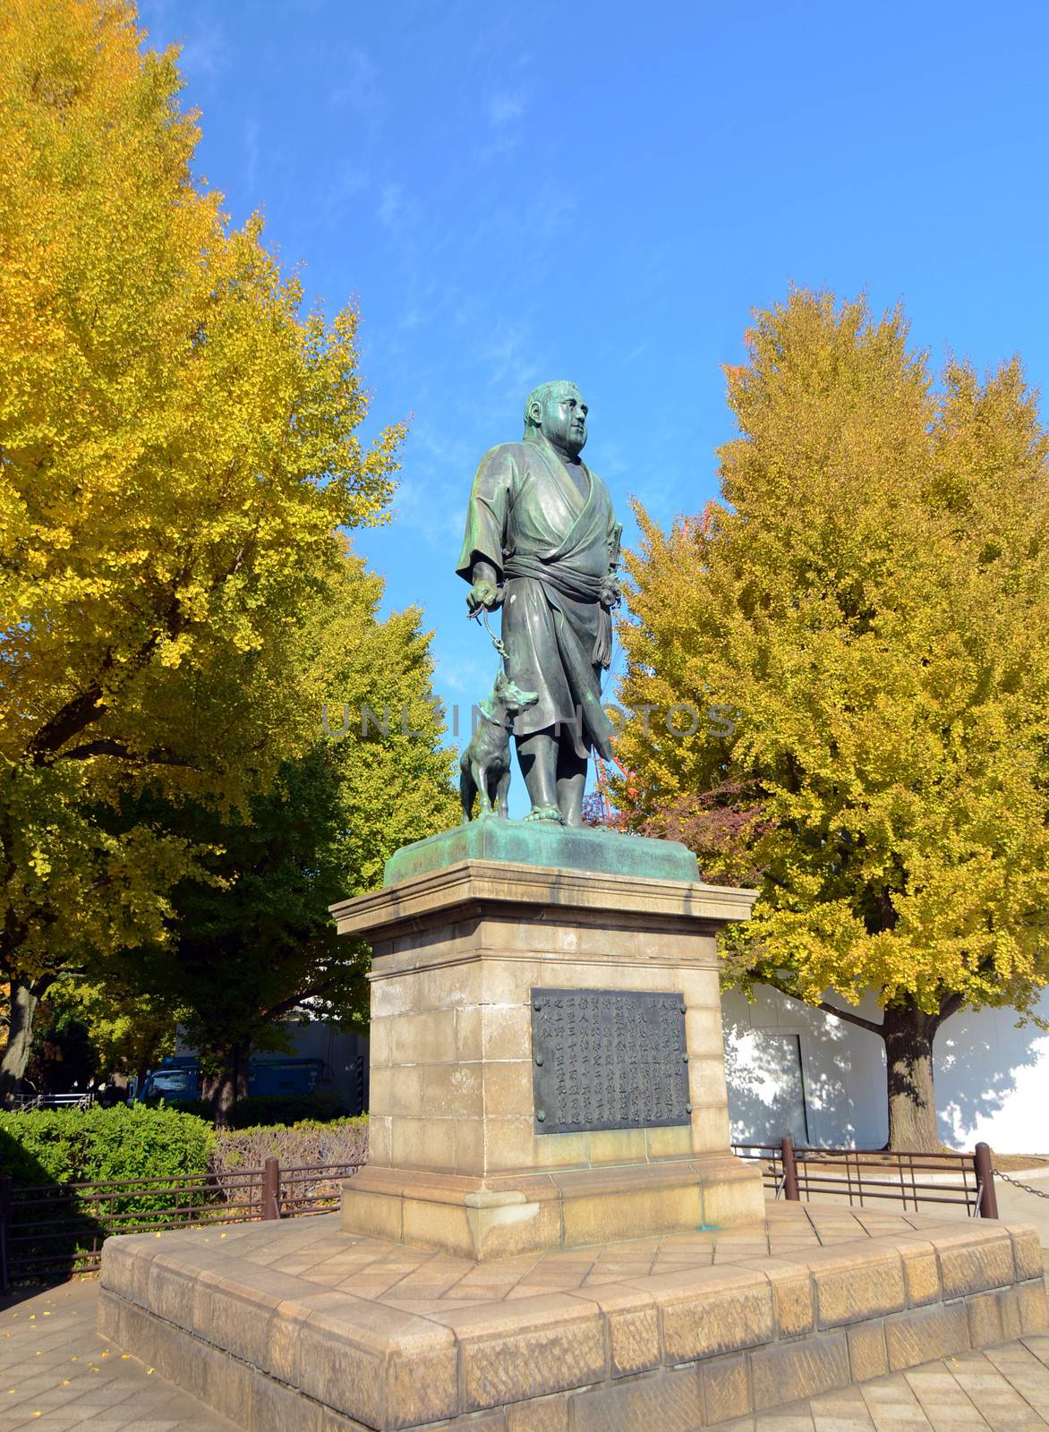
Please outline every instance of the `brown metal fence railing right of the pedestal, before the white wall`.
[[910, 1154], [807, 1148], [785, 1134], [778, 1144], [732, 1144], [732, 1151], [761, 1163], [765, 1189], [774, 1199], [846, 1197], [860, 1207], [888, 1199], [904, 1210], [947, 1203], [964, 1206], [973, 1219], [997, 1217], [987, 1144], [977, 1144], [973, 1153]]

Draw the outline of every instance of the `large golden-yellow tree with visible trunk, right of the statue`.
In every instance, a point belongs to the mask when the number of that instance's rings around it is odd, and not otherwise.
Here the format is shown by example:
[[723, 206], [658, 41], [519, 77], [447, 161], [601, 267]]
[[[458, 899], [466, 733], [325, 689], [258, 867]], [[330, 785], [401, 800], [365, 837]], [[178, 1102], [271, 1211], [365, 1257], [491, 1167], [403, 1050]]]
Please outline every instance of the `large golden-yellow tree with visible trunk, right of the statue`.
[[934, 382], [900, 311], [795, 291], [748, 344], [724, 501], [639, 513], [621, 632], [626, 706], [732, 727], [629, 723], [619, 799], [758, 886], [728, 977], [883, 1038], [890, 1146], [929, 1150], [937, 1030], [1049, 978], [1049, 441], [1017, 361]]

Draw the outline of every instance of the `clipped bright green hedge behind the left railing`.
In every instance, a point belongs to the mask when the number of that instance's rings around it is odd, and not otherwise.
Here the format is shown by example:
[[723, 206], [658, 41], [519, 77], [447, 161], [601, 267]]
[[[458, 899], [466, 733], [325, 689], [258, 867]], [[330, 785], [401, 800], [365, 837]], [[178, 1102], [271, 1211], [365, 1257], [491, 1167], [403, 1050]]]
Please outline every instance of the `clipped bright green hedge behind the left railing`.
[[0, 1169], [17, 1186], [205, 1174], [215, 1131], [145, 1104], [0, 1113]]

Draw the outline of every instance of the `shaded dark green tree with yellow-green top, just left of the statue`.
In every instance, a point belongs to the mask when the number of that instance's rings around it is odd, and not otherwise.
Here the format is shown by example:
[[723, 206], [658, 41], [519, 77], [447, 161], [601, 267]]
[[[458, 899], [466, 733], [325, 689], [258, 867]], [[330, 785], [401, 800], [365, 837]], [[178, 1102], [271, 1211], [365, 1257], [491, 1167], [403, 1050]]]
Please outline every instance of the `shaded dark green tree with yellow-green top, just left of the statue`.
[[318, 594], [298, 632], [314, 739], [246, 809], [133, 812], [185, 826], [211, 853], [172, 891], [169, 938], [110, 959], [93, 1008], [105, 1032], [126, 1001], [159, 1000], [203, 1057], [219, 1121], [251, 1050], [281, 1047], [279, 1021], [307, 1011], [367, 1027], [367, 945], [340, 939], [328, 906], [381, 884], [388, 855], [457, 816], [430, 637], [417, 609], [380, 619], [381, 596], [350, 554]]

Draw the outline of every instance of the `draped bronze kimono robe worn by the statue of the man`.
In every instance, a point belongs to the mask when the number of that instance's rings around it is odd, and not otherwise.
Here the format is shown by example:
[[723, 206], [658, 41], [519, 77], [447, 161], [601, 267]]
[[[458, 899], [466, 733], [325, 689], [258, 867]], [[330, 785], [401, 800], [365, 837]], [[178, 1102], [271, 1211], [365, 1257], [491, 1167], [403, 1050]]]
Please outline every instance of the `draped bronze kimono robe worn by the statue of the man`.
[[[473, 480], [456, 571], [492, 563], [503, 593], [509, 676], [539, 692], [514, 720], [517, 736], [556, 727], [586, 759], [610, 759], [613, 729], [600, 705], [612, 659], [612, 619], [600, 606], [613, 548], [608, 488], [582, 463], [583, 493], [542, 432], [490, 448]], [[582, 719], [580, 719], [582, 716]]]

